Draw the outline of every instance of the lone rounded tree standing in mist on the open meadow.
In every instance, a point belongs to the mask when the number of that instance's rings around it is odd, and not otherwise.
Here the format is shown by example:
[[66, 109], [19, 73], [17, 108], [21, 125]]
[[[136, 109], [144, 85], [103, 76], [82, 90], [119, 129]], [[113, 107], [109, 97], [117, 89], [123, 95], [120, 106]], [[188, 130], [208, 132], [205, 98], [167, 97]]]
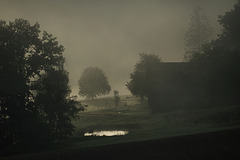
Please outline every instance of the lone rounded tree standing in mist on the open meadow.
[[109, 94], [111, 87], [102, 69], [86, 68], [79, 81], [79, 95], [94, 99], [97, 96]]

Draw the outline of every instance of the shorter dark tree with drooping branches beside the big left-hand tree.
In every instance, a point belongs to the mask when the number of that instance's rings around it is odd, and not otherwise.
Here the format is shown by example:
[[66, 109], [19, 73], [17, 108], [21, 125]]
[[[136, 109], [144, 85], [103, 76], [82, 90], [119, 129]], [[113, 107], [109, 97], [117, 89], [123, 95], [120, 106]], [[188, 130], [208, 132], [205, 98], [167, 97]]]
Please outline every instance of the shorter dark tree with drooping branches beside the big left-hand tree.
[[63, 70], [50, 70], [36, 82], [36, 106], [41, 109], [41, 119], [49, 124], [50, 136], [54, 142], [67, 138], [74, 131], [71, 123], [79, 109], [76, 98], [70, 97], [68, 73]]

